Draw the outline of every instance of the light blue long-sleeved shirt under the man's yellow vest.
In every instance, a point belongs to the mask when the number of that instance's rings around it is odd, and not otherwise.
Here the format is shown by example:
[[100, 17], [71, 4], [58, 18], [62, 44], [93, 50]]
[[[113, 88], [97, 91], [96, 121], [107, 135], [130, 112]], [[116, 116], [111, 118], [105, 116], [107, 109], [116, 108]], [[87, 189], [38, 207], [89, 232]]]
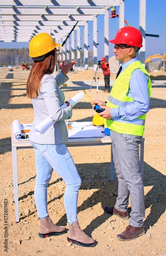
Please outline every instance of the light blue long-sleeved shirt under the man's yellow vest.
[[[138, 61], [137, 56], [122, 64], [121, 72], [134, 61]], [[125, 107], [111, 108], [112, 118], [120, 117], [122, 120], [133, 120], [149, 111], [148, 76], [140, 69], [134, 70], [131, 75], [128, 96], [132, 97], [134, 102]]]

